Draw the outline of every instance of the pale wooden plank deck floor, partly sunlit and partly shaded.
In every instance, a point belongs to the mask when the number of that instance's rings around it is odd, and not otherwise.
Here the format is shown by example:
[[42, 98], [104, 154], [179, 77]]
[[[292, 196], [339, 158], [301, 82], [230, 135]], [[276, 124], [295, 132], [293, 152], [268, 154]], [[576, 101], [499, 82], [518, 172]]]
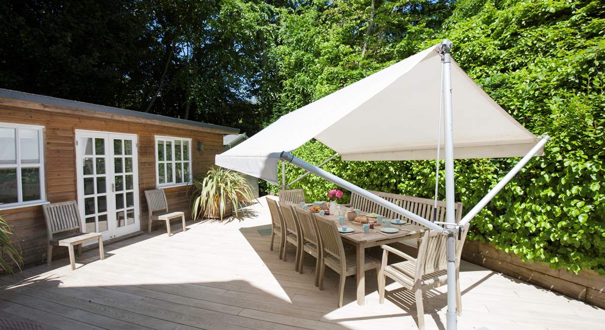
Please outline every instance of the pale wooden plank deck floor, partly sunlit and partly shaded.
[[[53, 267], [0, 278], [0, 319], [27, 319], [49, 329], [416, 329], [413, 296], [387, 286], [378, 303], [373, 273], [367, 305], [355, 300], [355, 279], [347, 279], [345, 306], [336, 308], [336, 274], [326, 288], [313, 286], [314, 262], [304, 274], [269, 251], [270, 224], [261, 204], [231, 222], [188, 223], [189, 230], [107, 245]], [[602, 329], [605, 311], [473, 264], [460, 267], [463, 314], [459, 329]], [[445, 294], [425, 294], [427, 329], [445, 328]], [[410, 312], [411, 311], [411, 312]]]

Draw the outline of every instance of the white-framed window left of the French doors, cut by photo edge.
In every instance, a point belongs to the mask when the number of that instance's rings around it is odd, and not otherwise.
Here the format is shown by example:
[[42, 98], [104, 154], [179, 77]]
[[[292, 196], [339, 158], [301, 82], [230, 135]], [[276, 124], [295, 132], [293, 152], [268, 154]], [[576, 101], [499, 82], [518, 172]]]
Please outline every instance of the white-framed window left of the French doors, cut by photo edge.
[[[18, 207], [27, 207], [33, 205], [48, 204], [46, 201], [46, 186], [44, 175], [44, 126], [39, 125], [27, 125], [17, 123], [4, 123], [0, 122], [1, 128], [14, 128], [15, 129], [15, 160], [16, 164], [0, 164], [0, 169], [13, 169], [17, 171], [17, 202], [0, 204], [0, 210], [16, 209]], [[38, 154], [40, 155], [39, 163], [21, 164], [21, 141], [19, 140], [20, 129], [35, 129], [38, 131]], [[21, 178], [21, 169], [32, 169], [39, 168], [40, 171], [40, 199], [34, 201], [23, 201], [23, 187]]]

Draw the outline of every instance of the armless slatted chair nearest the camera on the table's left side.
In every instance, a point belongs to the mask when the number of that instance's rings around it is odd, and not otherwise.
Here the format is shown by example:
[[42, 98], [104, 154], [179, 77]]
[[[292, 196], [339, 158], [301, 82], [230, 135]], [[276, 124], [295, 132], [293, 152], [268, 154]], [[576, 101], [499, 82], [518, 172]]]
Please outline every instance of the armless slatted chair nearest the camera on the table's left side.
[[[315, 213], [319, 239], [322, 248], [322, 263], [319, 267], [319, 290], [324, 289], [325, 266], [332, 268], [340, 275], [338, 283], [338, 307], [342, 307], [344, 295], [344, 283], [347, 276], [355, 275], [357, 272], [357, 252], [345, 249], [342, 238], [336, 228], [336, 222]], [[364, 271], [380, 268], [380, 261], [365, 255]], [[379, 276], [380, 277], [380, 276]]]

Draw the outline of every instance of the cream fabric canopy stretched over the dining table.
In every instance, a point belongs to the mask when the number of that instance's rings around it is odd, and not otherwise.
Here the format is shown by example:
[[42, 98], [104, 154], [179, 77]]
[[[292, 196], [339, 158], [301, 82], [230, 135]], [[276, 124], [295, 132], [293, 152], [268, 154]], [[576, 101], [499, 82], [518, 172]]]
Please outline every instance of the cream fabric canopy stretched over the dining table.
[[[435, 159], [440, 61], [437, 46], [421, 51], [282, 116], [217, 155], [215, 162], [277, 183], [281, 152], [290, 152], [312, 138], [341, 154], [342, 160]], [[451, 68], [454, 157], [525, 155], [538, 138], [500, 108], [455, 62]], [[443, 157], [443, 152], [440, 155]]]

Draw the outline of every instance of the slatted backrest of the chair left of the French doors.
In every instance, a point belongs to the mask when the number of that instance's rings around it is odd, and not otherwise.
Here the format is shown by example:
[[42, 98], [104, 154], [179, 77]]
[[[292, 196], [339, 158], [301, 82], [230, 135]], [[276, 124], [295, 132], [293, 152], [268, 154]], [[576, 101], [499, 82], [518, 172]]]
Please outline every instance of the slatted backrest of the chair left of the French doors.
[[58, 202], [42, 205], [44, 219], [48, 229], [48, 239], [56, 233], [77, 229], [82, 231], [80, 212], [76, 201]]

